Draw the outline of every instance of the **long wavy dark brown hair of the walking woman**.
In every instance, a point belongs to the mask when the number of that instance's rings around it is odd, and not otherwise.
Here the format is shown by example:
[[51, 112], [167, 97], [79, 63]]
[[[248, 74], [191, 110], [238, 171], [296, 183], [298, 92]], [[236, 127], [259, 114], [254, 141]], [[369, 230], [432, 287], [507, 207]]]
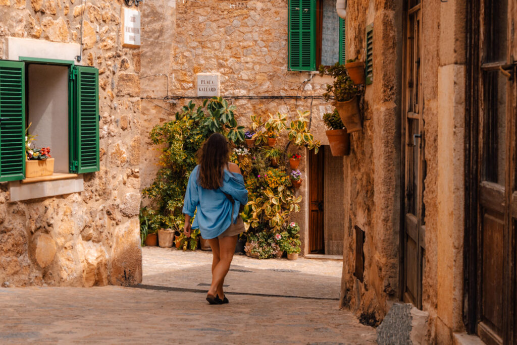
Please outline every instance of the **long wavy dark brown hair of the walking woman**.
[[204, 189], [214, 190], [222, 186], [230, 152], [230, 143], [219, 133], [210, 135], [197, 152], [197, 164], [200, 165], [197, 181]]

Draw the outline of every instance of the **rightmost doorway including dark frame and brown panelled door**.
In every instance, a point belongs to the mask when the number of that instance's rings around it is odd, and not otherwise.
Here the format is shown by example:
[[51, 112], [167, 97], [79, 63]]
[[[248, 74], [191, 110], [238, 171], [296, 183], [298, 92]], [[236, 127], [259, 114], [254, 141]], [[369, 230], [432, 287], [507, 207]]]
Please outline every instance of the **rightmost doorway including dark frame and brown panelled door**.
[[489, 344], [517, 344], [514, 5], [468, 8], [465, 323]]

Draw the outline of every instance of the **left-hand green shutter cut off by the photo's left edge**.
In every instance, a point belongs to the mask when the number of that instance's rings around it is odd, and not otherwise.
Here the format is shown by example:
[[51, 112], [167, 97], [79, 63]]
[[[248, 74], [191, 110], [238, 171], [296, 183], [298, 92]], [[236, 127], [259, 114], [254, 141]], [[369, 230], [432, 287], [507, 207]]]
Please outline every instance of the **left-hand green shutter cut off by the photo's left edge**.
[[25, 64], [0, 60], [0, 181], [25, 178]]

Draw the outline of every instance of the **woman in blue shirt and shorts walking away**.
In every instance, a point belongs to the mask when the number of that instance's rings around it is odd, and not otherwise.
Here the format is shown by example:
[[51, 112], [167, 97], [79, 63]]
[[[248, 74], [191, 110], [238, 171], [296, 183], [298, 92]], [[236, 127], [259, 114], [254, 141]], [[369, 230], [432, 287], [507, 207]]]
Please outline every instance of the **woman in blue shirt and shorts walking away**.
[[237, 235], [245, 231], [239, 208], [248, 202], [248, 191], [238, 165], [230, 163], [230, 153], [224, 136], [210, 135], [190, 174], [183, 206], [185, 235], [189, 237], [191, 228], [199, 228], [214, 254], [212, 284], [206, 296], [210, 304], [228, 303], [223, 291], [224, 278], [230, 270]]

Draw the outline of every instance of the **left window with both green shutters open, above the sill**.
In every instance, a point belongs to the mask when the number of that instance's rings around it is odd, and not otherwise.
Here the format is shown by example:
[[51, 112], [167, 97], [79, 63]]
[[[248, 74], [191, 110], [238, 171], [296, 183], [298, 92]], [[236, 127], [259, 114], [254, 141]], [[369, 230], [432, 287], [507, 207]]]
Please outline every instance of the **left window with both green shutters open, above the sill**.
[[55, 172], [99, 170], [98, 70], [73, 61], [0, 60], [0, 181], [25, 178], [25, 128]]

